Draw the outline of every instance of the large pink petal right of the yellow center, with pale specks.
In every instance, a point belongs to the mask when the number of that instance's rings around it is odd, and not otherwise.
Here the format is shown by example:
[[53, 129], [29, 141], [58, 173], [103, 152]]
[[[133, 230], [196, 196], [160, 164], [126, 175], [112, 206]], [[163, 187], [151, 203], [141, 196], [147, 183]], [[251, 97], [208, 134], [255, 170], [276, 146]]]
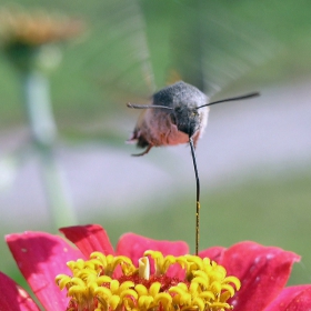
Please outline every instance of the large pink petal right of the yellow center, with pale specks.
[[241, 242], [224, 251], [219, 263], [235, 275], [242, 288], [231, 303], [234, 311], [262, 310], [285, 285], [292, 264], [300, 257], [279, 248]]

